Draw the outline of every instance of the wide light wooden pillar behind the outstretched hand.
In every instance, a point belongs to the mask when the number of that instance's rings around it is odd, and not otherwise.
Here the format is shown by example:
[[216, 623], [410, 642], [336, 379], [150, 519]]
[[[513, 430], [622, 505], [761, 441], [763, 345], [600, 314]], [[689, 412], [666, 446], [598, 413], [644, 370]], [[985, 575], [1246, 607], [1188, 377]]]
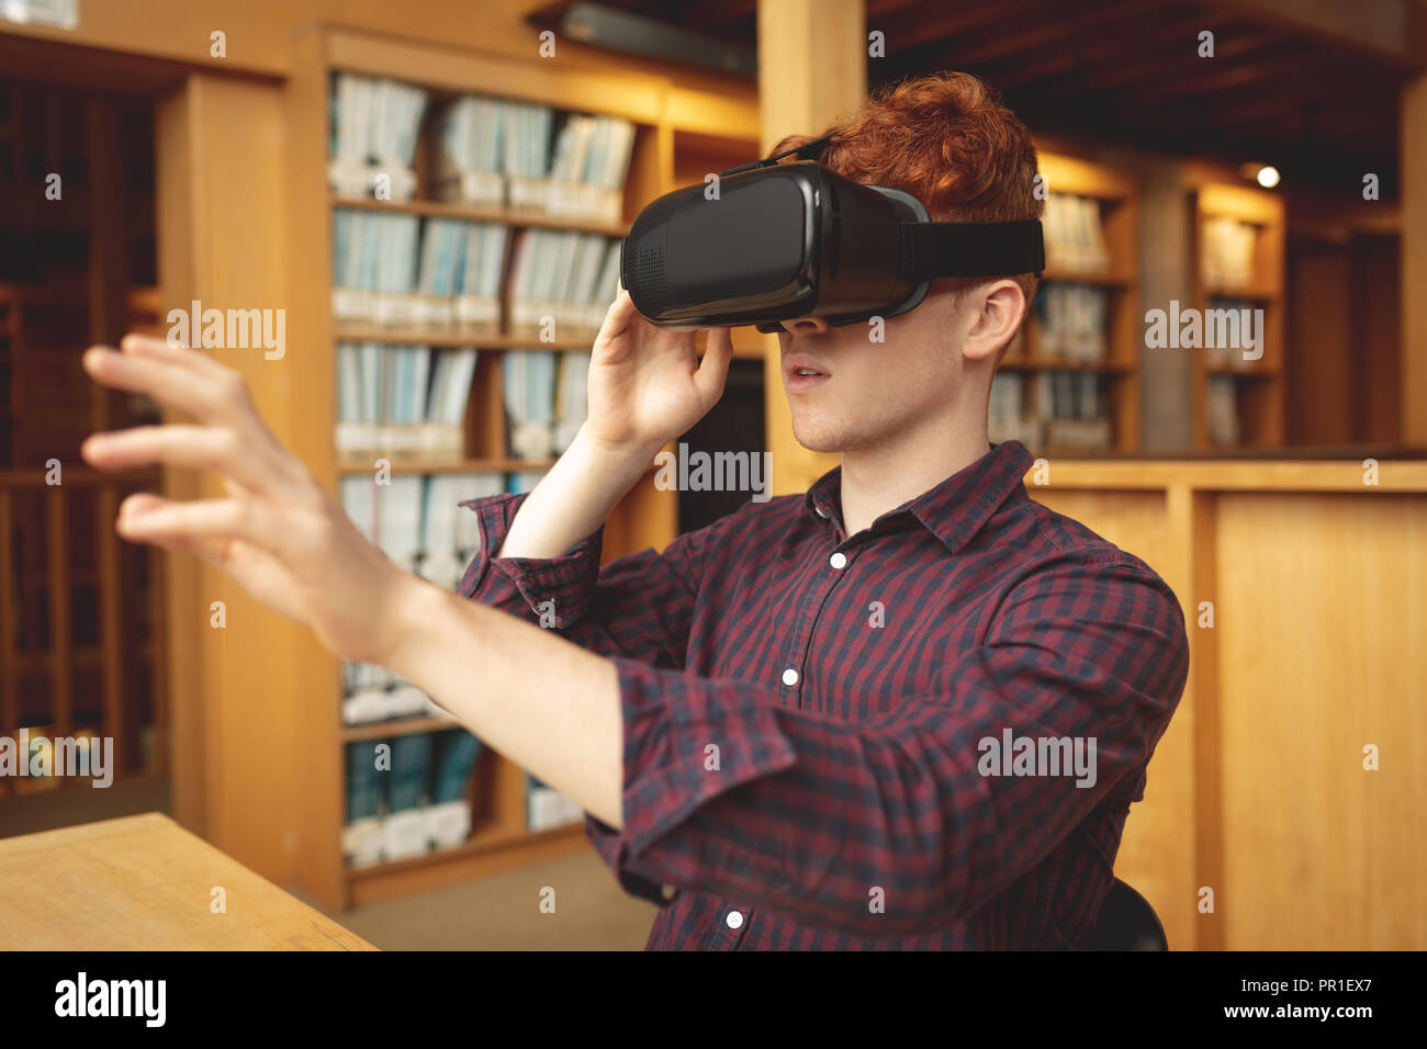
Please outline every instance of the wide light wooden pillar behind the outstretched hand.
[[[288, 308], [285, 263], [291, 156], [280, 81], [193, 73], [157, 108], [158, 328], [197, 300], [203, 310]], [[314, 176], [315, 177], [315, 176]], [[275, 314], [274, 314], [275, 317]], [[295, 318], [301, 320], [301, 318]], [[237, 368], [278, 441], [311, 457], [315, 435], [331, 447], [330, 397], [297, 375], [330, 361], [330, 347], [288, 324], [285, 354], [264, 347], [208, 348]], [[307, 460], [317, 470], [323, 462]], [[171, 498], [221, 495], [215, 475], [168, 470]], [[238, 862], [288, 882], [297, 871], [303, 819], [301, 732], [307, 708], [335, 689], [314, 688], [332, 671], [313, 659], [311, 635], [250, 598], [215, 568], [166, 555], [174, 815]], [[214, 602], [223, 602], [221, 625]], [[318, 665], [320, 664], [320, 665]]]

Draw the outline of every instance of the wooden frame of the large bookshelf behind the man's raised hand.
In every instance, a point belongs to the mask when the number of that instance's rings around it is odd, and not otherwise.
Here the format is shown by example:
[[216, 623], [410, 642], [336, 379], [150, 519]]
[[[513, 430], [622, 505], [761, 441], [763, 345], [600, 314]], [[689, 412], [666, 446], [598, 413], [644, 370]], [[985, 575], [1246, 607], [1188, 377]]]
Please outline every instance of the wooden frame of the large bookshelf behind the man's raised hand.
[[[411, 164], [415, 191], [410, 198], [374, 200], [355, 196], [351, 187], [341, 187], [342, 191], [331, 187], [327, 177], [328, 114], [337, 74], [391, 78], [428, 93], [427, 116]], [[678, 104], [669, 101], [674, 94], [678, 96]], [[611, 221], [609, 217], [551, 214], [491, 203], [437, 198], [437, 177], [442, 161], [437, 156], [440, 147], [434, 137], [435, 121], [448, 104], [465, 96], [534, 103], [557, 113], [629, 121], [634, 128], [632, 146], [618, 221]], [[371, 455], [357, 458], [344, 454], [332, 440], [338, 345], [418, 345], [430, 347], [432, 354], [468, 348], [477, 351], [459, 452], [390, 457], [394, 478], [438, 478], [548, 470], [552, 458], [527, 460], [512, 452], [504, 411], [502, 363], [509, 354], [529, 348], [554, 351], [557, 358], [585, 353], [592, 338], [588, 328], [567, 328], [554, 341], [539, 341], [528, 330], [514, 330], [508, 301], [502, 303], [499, 324], [482, 331], [338, 324], [332, 310], [335, 274], [331, 257], [332, 224], [338, 211], [385, 211], [414, 216], [421, 223], [499, 223], [512, 233], [548, 230], [618, 238], [646, 201], [681, 184], [689, 164], [702, 167], [712, 150], [728, 157], [719, 163], [719, 167], [728, 167], [753, 156], [752, 143], [756, 141], [753, 107], [729, 106], [712, 93], [702, 98], [696, 91], [675, 90], [656, 77], [605, 73], [542, 61], [534, 56], [527, 60], [474, 54], [377, 39], [335, 27], [311, 27], [298, 34], [285, 104], [297, 143], [287, 177], [293, 217], [287, 243], [294, 260], [293, 271], [303, 274], [303, 280], [293, 288], [288, 338], [294, 344], [301, 340], [304, 345], [327, 347], [325, 353], [294, 361], [294, 374], [288, 381], [294, 391], [305, 391], [304, 401], [310, 401], [313, 408], [313, 418], [304, 425], [310, 438], [304, 458], [320, 475], [331, 480], [334, 490], [372, 470]], [[512, 238], [507, 237], [502, 258], [502, 295], [509, 287]], [[748, 341], [742, 345], [743, 353], [752, 350]], [[301, 447], [303, 441], [294, 444]], [[459, 498], [474, 494], [462, 494]], [[676, 492], [658, 491], [652, 484], [636, 485], [606, 522], [605, 561], [645, 547], [662, 548], [668, 544], [678, 529], [676, 498]], [[361, 866], [348, 865], [342, 855], [342, 829], [347, 824], [345, 748], [448, 731], [452, 722], [422, 711], [371, 724], [344, 724], [338, 714], [345, 694], [344, 668], [321, 652], [315, 641], [311, 642], [311, 652], [303, 654], [303, 662], [314, 668], [314, 681], [330, 682], [325, 688], [330, 698], [313, 698], [301, 714], [301, 731], [311, 741], [315, 758], [304, 776], [307, 802], [298, 869], [304, 883], [328, 906], [345, 908], [585, 848], [582, 822], [548, 831], [527, 829], [524, 771], [482, 748], [467, 791], [471, 829], [462, 842], [421, 855], [384, 858]]]

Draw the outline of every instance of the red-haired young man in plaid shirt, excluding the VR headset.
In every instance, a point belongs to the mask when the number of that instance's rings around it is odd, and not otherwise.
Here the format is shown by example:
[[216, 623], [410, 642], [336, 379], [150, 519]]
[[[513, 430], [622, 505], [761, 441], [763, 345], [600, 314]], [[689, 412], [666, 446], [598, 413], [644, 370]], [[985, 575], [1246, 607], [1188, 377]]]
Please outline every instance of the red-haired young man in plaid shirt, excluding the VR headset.
[[[906, 83], [838, 130], [822, 163], [936, 220], [1042, 211], [1023, 126], [973, 77]], [[208, 558], [579, 802], [621, 883], [661, 905], [651, 948], [1073, 948], [1187, 642], [1164, 582], [1032, 501], [1023, 447], [987, 442], [1033, 290], [939, 281], [885, 343], [783, 324], [793, 432], [841, 468], [601, 569], [605, 517], [731, 357], [712, 331], [701, 363], [621, 293], [571, 450], [531, 494], [467, 504], [482, 544], [461, 597], [397, 569], [201, 354], [90, 350], [96, 380], [198, 425], [84, 454], [223, 471], [228, 498], [136, 495], [120, 532]]]

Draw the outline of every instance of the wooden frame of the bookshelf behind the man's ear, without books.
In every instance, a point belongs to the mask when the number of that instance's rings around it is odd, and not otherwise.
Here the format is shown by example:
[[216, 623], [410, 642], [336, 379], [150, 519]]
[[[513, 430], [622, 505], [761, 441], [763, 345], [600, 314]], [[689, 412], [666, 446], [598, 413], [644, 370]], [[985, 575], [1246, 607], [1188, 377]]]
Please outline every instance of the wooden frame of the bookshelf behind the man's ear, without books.
[[[1050, 193], [1089, 197], [1099, 206], [1107, 263], [1100, 270], [1069, 270], [1052, 264], [1042, 274], [1036, 294], [1056, 285], [1076, 284], [1103, 291], [1106, 354], [1099, 361], [1049, 355], [1039, 345], [1035, 324], [1027, 318], [1023, 338], [1007, 351], [1000, 370], [1025, 374], [1027, 415], [1035, 411], [1039, 387], [1050, 381], [1050, 373], [1099, 374], [1100, 400], [1110, 422], [1110, 444], [1103, 452], [1133, 452], [1140, 447], [1139, 186], [1129, 174], [1104, 164], [1045, 148], [1037, 150], [1037, 154], [1040, 173]], [[1036, 455], [1079, 458], [1097, 454], [1083, 448], [1057, 448], [1049, 441], [1030, 451]]]

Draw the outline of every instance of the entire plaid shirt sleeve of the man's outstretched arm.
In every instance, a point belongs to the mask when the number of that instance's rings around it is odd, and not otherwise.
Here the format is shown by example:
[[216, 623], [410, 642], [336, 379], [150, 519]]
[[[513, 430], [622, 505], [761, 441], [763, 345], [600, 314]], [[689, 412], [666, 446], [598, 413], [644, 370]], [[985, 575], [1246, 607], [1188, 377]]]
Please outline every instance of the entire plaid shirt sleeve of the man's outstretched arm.
[[[902, 935], [965, 918], [1122, 779], [1133, 788], [1179, 704], [1189, 644], [1169, 587], [1114, 555], [1030, 575], [983, 645], [878, 719], [615, 664], [624, 831], [589, 824], [626, 888], [676, 885], [825, 929]], [[1089, 771], [1006, 775], [1010, 758], [992, 748], [1019, 739], [1079, 742]]]

